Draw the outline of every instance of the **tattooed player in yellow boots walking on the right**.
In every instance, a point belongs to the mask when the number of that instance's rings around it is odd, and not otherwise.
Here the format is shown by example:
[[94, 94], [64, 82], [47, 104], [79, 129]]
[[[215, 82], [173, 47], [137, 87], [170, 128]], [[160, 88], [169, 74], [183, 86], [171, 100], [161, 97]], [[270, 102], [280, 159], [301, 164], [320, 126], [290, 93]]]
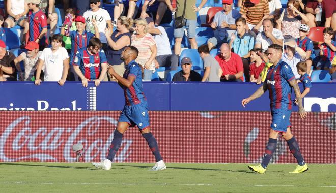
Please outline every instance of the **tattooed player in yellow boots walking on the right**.
[[291, 123], [289, 122], [289, 118], [292, 109], [292, 88], [294, 88], [298, 102], [300, 117], [305, 118], [307, 114], [302, 106], [300, 88], [298, 87], [293, 71], [286, 62], [281, 60], [282, 52], [283, 47], [277, 44], [272, 44], [268, 47], [267, 57], [269, 62], [273, 63], [273, 66], [270, 67], [267, 72], [266, 81], [254, 94], [241, 101], [243, 107], [245, 107], [250, 101], [261, 97], [266, 90], [269, 91], [272, 123], [269, 131], [268, 144], [262, 163], [258, 166], [248, 166], [250, 170], [261, 174], [266, 172], [266, 167], [276, 149], [277, 136], [279, 133], [281, 133], [283, 138], [287, 141], [289, 149], [298, 163], [296, 169], [291, 173], [301, 173], [308, 170], [308, 166], [301, 155], [299, 144], [293, 137], [290, 128]]

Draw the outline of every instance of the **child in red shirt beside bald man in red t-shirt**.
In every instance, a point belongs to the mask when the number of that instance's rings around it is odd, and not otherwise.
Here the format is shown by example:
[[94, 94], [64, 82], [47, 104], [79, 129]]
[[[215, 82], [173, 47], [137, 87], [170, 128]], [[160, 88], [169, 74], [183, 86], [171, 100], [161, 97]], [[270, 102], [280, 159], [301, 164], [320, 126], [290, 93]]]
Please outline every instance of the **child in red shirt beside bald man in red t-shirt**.
[[254, 48], [251, 49], [251, 64], [249, 65], [249, 74], [250, 82], [257, 82], [257, 79], [260, 75], [260, 73], [263, 71], [265, 67], [265, 62], [261, 59], [261, 57], [257, 54], [257, 52], [262, 52], [260, 48]]

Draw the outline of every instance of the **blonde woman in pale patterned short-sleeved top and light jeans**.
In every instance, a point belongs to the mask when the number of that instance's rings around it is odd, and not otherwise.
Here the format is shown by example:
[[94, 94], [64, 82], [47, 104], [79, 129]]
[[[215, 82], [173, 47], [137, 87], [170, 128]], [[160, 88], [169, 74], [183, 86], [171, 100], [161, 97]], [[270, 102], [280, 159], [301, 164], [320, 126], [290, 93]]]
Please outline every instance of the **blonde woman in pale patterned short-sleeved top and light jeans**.
[[131, 45], [139, 50], [135, 61], [144, 67], [144, 81], [151, 81], [155, 68], [159, 68], [154, 59], [157, 54], [155, 38], [147, 31], [146, 19], [135, 19], [136, 34], [132, 35]]

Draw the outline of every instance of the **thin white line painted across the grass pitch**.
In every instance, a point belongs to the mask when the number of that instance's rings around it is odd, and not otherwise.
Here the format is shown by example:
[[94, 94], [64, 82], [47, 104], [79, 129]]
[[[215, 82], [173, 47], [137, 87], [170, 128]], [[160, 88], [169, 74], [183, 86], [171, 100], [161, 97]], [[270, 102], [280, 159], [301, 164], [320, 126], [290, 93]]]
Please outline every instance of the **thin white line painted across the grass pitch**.
[[[336, 187], [323, 185], [262, 185], [262, 184], [170, 184], [170, 183], [54, 183], [54, 182], [2, 182], [3, 184], [46, 184], [46, 185], [181, 185], [181, 186], [253, 186], [253, 187]], [[1, 184], [1, 183], [0, 183]]]

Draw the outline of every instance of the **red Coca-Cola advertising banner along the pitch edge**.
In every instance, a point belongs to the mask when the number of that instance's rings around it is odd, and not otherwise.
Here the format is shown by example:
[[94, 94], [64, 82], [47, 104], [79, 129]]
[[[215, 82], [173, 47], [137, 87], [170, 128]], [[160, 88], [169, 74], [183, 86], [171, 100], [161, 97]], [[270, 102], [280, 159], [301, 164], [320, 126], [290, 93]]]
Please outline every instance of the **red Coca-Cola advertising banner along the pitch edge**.
[[[85, 162], [105, 159], [119, 111], [0, 112], [0, 161]], [[260, 162], [268, 141], [270, 112], [150, 112], [151, 130], [165, 162]], [[307, 163], [336, 163], [336, 113], [291, 116], [292, 133]], [[154, 162], [136, 127], [124, 134], [115, 162]], [[273, 163], [295, 163], [279, 137]]]

